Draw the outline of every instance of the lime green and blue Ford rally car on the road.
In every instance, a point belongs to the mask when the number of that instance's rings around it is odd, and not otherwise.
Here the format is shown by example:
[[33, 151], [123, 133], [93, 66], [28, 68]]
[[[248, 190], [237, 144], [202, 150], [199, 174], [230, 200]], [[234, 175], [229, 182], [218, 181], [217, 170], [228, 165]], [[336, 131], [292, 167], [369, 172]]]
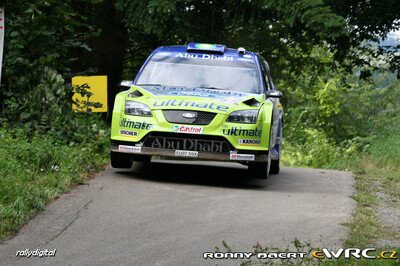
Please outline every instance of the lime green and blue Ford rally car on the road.
[[255, 178], [277, 174], [282, 94], [257, 53], [190, 43], [156, 49], [115, 98], [111, 164], [151, 156], [234, 161]]

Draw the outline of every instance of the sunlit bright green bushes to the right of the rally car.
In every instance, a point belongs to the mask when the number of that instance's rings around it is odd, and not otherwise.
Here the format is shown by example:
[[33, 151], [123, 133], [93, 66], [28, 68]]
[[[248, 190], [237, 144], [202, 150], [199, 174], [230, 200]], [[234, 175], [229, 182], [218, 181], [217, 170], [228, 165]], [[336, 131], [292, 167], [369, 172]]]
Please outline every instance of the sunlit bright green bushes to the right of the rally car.
[[[301, 50], [288, 50], [303, 57]], [[332, 167], [365, 151], [376, 136], [399, 128], [400, 81], [387, 69], [360, 79], [360, 68], [346, 73], [334, 54], [314, 47], [299, 74], [287, 70], [278, 81], [284, 92], [285, 154], [289, 165]]]

